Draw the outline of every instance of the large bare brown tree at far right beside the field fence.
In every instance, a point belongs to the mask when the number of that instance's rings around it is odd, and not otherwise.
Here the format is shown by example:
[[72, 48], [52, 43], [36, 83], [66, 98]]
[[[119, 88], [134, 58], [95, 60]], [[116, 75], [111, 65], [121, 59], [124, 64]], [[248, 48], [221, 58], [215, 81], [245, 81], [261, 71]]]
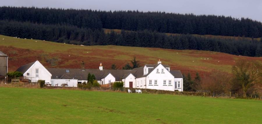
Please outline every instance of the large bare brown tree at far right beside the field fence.
[[243, 98], [247, 98], [247, 90], [262, 81], [262, 65], [257, 61], [240, 60], [233, 65], [233, 82], [241, 85]]

